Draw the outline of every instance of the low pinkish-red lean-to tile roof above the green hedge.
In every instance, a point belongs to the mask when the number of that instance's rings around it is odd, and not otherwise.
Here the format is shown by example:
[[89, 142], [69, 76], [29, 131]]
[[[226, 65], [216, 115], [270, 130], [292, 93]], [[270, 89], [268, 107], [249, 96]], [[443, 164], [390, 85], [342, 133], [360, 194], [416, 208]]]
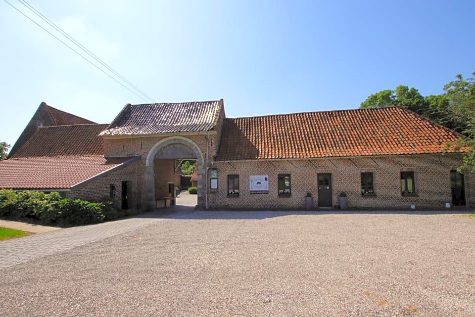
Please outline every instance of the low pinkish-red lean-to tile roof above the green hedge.
[[8, 159], [0, 161], [0, 188], [69, 189], [134, 159], [104, 156]]

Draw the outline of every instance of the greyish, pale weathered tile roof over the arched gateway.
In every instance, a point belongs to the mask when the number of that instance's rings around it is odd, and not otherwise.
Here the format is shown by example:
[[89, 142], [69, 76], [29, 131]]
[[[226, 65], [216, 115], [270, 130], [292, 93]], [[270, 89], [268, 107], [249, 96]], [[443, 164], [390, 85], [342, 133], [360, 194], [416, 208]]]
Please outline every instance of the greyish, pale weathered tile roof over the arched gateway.
[[101, 135], [143, 135], [209, 131], [216, 126], [223, 100], [126, 105]]

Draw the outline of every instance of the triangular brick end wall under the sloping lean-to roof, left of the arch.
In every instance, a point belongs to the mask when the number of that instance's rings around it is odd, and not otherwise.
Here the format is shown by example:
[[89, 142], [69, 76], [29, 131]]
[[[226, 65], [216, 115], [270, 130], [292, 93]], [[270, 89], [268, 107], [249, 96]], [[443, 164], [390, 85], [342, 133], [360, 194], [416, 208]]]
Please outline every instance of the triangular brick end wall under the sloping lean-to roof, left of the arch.
[[[73, 190], [68, 196], [70, 198], [98, 201], [109, 197], [110, 186], [115, 186], [114, 201], [118, 208], [122, 204], [122, 182], [127, 182], [128, 207], [140, 209], [137, 191], [137, 166], [138, 162], [133, 162], [123, 168], [116, 169], [110, 174], [94, 180], [93, 182]], [[138, 204], [138, 205], [137, 205]]]

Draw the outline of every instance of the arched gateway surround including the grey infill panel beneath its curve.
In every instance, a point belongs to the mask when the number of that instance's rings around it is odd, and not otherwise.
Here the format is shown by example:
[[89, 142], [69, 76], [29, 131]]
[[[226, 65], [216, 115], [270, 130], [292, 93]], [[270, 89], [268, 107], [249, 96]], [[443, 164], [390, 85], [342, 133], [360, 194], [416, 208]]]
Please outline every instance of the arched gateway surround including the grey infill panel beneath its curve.
[[147, 154], [147, 204], [155, 208], [155, 169], [154, 164], [160, 159], [196, 159], [198, 163], [198, 206], [204, 207], [203, 177], [205, 159], [200, 147], [192, 140], [179, 135], [162, 139]]

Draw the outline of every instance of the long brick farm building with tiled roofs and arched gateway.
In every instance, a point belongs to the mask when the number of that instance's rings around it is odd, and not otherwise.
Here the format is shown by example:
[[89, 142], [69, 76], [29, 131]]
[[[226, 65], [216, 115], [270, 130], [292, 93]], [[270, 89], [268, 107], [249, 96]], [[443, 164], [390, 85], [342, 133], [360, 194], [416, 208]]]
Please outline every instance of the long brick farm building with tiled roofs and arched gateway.
[[205, 208], [303, 208], [307, 193], [335, 207], [341, 192], [356, 208], [474, 206], [461, 153], [443, 154], [460, 137], [398, 107], [226, 118], [222, 99], [126, 105], [111, 124], [37, 128], [0, 162], [0, 188], [151, 209], [191, 159]]

